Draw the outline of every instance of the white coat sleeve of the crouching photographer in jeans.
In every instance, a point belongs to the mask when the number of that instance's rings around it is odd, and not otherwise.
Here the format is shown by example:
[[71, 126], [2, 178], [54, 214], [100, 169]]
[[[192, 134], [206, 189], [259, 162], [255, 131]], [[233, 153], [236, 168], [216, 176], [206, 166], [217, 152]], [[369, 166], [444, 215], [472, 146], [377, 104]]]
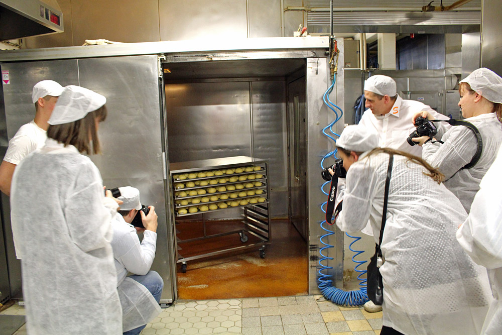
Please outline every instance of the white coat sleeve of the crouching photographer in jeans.
[[144, 276], [150, 271], [155, 258], [157, 233], [146, 230], [140, 244], [136, 231], [131, 230], [129, 235], [124, 235], [121, 241], [116, 243], [120, 245], [120, 250], [127, 250], [120, 256], [120, 261], [129, 272]]

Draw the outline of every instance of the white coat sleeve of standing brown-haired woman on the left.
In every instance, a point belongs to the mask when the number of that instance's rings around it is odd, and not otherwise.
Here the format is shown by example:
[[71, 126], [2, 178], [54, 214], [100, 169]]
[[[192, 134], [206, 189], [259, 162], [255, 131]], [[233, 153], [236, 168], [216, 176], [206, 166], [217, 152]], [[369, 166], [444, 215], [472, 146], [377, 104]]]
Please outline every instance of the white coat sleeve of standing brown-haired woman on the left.
[[103, 186], [97, 168], [82, 165], [71, 192], [63, 208], [71, 240], [84, 252], [105, 247], [112, 237], [112, 216], [103, 206]]

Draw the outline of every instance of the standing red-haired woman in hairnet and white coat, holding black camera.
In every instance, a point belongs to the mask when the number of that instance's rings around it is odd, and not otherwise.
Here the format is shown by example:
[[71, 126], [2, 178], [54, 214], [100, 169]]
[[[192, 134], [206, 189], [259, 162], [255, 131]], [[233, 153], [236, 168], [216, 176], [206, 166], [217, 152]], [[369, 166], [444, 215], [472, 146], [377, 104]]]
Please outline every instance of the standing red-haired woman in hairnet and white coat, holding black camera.
[[[482, 139], [482, 152], [477, 163], [471, 168], [464, 168], [478, 150], [476, 136], [467, 127], [456, 126], [446, 130], [444, 123], [437, 122], [434, 123], [438, 130], [437, 138], [443, 144], [433, 143], [435, 140], [426, 142], [429, 140], [427, 136], [413, 141], [423, 145], [422, 158], [445, 175], [444, 184], [469, 212], [474, 195], [479, 190], [479, 182], [493, 163], [502, 141], [502, 78], [487, 68], [480, 68], [460, 81], [459, 92], [458, 106], [464, 121], [473, 124]], [[426, 111], [417, 116], [434, 120]]]

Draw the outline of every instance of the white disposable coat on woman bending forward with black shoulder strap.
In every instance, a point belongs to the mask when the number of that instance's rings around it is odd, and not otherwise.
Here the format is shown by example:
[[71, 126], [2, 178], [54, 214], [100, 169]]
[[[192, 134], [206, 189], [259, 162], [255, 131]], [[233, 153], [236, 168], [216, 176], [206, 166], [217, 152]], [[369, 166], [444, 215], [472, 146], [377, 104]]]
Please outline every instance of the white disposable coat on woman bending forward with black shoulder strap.
[[[407, 335], [478, 334], [492, 301], [486, 271], [455, 239], [466, 213], [427, 170], [394, 156], [382, 240], [383, 324]], [[353, 233], [368, 219], [378, 243], [389, 155], [362, 157], [347, 171], [336, 224]]]

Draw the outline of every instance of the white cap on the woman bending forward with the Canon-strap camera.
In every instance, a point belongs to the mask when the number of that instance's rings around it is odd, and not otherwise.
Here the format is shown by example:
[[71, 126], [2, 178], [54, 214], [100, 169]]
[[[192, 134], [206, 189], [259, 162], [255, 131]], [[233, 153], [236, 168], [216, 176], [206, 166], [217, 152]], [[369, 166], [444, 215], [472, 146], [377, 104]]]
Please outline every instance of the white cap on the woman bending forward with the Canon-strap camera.
[[376, 132], [359, 125], [345, 127], [336, 146], [345, 150], [365, 152], [378, 147], [379, 136]]

